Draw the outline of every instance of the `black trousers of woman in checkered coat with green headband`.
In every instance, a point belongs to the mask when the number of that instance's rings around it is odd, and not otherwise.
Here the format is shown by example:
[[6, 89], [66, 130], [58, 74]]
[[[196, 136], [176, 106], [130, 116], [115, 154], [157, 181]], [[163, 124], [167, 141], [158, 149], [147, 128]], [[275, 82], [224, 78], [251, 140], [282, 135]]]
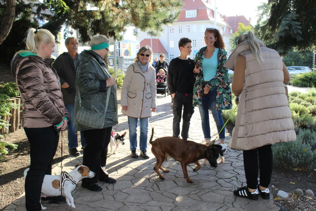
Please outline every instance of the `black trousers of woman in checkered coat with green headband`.
[[99, 178], [104, 179], [109, 175], [102, 170], [106, 166], [107, 146], [110, 143], [112, 127], [103, 129], [84, 130], [83, 136], [87, 146], [83, 150], [83, 165], [88, 166], [95, 173], [93, 178], [83, 178], [82, 183], [91, 185], [98, 183]]

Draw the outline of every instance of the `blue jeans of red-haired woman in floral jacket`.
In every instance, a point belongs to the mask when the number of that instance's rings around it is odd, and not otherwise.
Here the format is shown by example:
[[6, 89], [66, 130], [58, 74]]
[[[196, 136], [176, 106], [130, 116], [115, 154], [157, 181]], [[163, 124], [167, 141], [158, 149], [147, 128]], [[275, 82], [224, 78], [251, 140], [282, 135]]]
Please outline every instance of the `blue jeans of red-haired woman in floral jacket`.
[[[216, 123], [217, 132], [219, 133], [224, 126], [224, 121], [222, 119], [222, 110], [216, 110], [216, 95], [217, 90], [210, 91], [206, 95], [202, 96], [202, 107], [199, 107], [201, 120], [202, 120], [202, 130], [205, 140], [211, 139], [211, 130], [210, 130], [210, 117], [209, 109], [212, 111], [214, 121]], [[225, 140], [225, 127], [222, 132], [219, 134], [219, 139]]]

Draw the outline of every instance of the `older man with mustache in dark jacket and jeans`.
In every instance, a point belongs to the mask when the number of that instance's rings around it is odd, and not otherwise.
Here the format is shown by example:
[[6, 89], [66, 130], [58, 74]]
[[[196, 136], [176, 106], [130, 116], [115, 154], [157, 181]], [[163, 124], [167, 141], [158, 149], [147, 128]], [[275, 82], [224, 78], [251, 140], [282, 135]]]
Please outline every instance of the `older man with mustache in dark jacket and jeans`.
[[[76, 37], [68, 37], [65, 40], [65, 46], [68, 52], [60, 54], [53, 67], [60, 77], [60, 84], [63, 88], [63, 100], [65, 107], [70, 114], [70, 120], [67, 123], [68, 128], [68, 148], [71, 155], [78, 156], [78, 136], [75, 130], [75, 96], [76, 96], [76, 67], [79, 61], [78, 39]], [[84, 140], [83, 133], [80, 133], [82, 149], [87, 145]]]

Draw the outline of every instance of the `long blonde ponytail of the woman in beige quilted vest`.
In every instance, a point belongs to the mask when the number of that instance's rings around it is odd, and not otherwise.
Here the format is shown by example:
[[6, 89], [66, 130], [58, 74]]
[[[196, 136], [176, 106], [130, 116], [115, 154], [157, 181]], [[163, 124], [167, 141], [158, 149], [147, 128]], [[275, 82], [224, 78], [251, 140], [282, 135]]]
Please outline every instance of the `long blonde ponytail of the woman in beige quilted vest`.
[[259, 64], [261, 64], [261, 61], [264, 61], [264, 59], [261, 56], [260, 45], [258, 41], [256, 40], [256, 37], [252, 31], [248, 31], [248, 33], [240, 34], [237, 40], [237, 44], [239, 45], [245, 40], [247, 40], [247, 43], [249, 45], [249, 51], [253, 54], [253, 56], [256, 58]]

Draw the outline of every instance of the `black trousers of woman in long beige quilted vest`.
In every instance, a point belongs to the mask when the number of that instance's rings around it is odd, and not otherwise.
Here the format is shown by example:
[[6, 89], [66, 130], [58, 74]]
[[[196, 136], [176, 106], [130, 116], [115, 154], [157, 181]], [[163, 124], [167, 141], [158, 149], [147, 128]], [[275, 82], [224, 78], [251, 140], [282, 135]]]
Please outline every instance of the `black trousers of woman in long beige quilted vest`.
[[258, 157], [260, 166], [260, 185], [267, 188], [271, 181], [273, 155], [271, 145], [261, 146], [257, 149], [245, 150], [244, 166], [247, 187], [256, 189], [258, 185]]

